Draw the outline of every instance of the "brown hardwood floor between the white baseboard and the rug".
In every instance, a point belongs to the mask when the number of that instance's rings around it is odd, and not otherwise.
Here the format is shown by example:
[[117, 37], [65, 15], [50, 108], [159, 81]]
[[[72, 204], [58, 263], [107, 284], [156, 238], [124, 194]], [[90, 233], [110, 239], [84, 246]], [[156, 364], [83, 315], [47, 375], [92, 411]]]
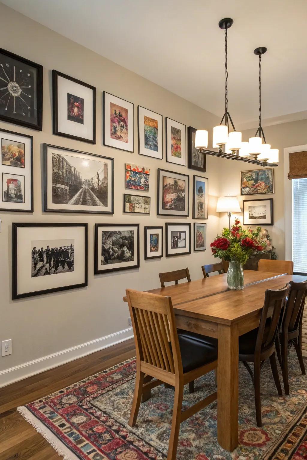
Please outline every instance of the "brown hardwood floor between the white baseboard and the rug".
[[16, 408], [134, 356], [134, 340], [129, 339], [0, 388], [0, 460], [61, 458], [50, 444], [16, 412]]

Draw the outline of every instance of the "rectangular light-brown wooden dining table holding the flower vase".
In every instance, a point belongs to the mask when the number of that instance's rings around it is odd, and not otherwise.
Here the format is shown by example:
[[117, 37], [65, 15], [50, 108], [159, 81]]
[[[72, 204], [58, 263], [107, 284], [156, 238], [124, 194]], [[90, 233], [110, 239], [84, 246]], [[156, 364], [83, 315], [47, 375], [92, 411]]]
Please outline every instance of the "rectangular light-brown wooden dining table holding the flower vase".
[[259, 326], [266, 289], [291, 280], [306, 276], [245, 270], [240, 291], [228, 288], [226, 273], [147, 291], [171, 297], [177, 328], [218, 339], [217, 440], [229, 452], [238, 445], [238, 337]]

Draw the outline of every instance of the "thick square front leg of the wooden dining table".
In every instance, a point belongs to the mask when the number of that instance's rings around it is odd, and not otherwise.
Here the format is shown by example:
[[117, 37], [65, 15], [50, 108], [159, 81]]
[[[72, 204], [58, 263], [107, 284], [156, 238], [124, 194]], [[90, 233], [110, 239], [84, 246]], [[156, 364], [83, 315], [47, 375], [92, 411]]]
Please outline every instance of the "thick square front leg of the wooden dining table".
[[238, 328], [218, 325], [217, 440], [232, 452], [238, 445]]

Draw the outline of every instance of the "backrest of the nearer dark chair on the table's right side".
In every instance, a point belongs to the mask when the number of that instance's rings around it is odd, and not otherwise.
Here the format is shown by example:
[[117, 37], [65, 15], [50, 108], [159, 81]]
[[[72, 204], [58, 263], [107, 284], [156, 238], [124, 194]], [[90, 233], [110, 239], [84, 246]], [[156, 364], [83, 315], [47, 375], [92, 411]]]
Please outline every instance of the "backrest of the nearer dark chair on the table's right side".
[[[264, 305], [261, 311], [260, 324], [256, 339], [255, 356], [274, 346], [278, 322], [282, 308], [290, 291], [287, 283], [282, 289], [266, 289]], [[270, 318], [270, 320], [269, 320]]]

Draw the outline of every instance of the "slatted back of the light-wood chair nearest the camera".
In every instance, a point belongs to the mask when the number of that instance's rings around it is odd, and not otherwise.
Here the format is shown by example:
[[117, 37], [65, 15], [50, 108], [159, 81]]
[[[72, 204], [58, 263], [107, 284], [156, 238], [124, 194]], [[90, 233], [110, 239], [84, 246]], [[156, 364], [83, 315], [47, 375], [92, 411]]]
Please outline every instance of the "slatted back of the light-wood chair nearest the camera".
[[162, 371], [182, 374], [171, 298], [133, 289], [126, 289], [126, 293], [137, 358]]

